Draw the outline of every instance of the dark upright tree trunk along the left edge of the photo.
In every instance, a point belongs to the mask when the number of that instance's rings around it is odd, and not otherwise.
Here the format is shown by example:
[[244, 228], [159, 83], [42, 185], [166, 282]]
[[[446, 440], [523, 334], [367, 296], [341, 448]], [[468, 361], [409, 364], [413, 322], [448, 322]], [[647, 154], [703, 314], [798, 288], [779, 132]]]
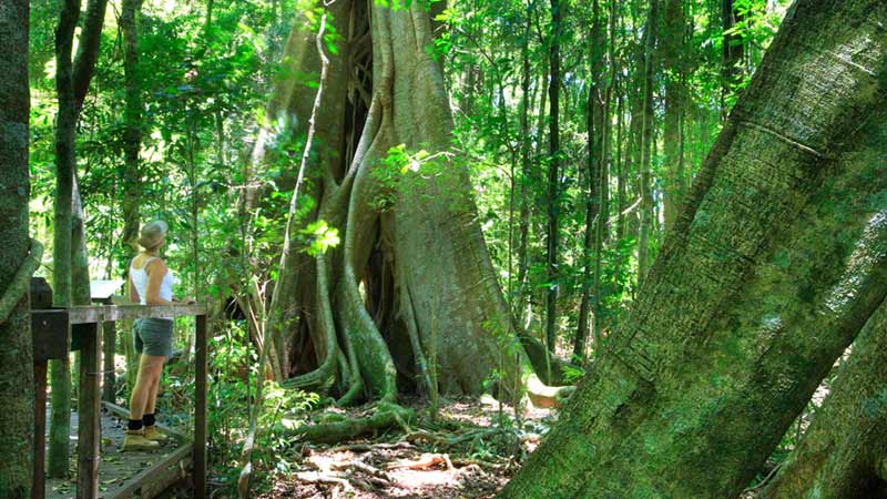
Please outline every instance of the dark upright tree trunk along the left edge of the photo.
[[[0, 295], [11, 286], [28, 257], [28, 83], [27, 0], [4, 1], [0, 8]], [[27, 295], [9, 317], [0, 317], [0, 497], [31, 495], [33, 457], [33, 350]]]

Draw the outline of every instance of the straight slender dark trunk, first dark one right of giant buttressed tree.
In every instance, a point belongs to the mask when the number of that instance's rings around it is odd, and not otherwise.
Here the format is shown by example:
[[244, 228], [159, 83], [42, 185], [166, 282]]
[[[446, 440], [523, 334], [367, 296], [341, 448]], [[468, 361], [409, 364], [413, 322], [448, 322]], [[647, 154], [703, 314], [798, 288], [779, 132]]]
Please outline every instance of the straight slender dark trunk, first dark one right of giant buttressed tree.
[[558, 342], [558, 251], [560, 242], [560, 88], [561, 88], [561, 7], [560, 0], [551, 0], [551, 82], [549, 100], [551, 101], [551, 120], [549, 121], [549, 164], [548, 164], [548, 228], [547, 240], [547, 277], [546, 293], [546, 344], [554, 352]]

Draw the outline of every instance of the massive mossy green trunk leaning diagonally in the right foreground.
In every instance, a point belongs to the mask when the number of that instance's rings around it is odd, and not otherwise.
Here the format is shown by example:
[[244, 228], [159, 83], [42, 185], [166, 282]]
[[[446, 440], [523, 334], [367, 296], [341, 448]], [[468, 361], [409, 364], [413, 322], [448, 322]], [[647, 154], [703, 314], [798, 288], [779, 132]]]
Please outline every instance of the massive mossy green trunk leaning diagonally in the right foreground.
[[[887, 6], [798, 1], [638, 302], [502, 498], [736, 497], [887, 295]], [[850, 152], [848, 152], [850, 151]]]

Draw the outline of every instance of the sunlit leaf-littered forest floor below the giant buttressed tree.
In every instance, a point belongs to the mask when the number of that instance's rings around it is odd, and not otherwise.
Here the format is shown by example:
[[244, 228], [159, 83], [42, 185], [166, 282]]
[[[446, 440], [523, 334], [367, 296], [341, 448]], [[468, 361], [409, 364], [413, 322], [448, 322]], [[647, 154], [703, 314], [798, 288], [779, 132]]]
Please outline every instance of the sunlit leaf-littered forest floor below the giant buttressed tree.
[[[410, 406], [409, 401], [406, 403]], [[427, 406], [412, 406], [417, 413]], [[261, 499], [491, 498], [520, 468], [555, 415], [491, 398], [449, 400], [434, 419], [373, 439], [300, 449], [298, 470]]]

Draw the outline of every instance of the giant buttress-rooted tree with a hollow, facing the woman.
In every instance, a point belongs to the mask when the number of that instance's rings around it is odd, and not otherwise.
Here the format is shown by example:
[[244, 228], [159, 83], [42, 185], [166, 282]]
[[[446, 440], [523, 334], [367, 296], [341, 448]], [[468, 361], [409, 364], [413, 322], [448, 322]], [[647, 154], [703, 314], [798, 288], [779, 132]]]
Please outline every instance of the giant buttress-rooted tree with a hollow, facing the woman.
[[[328, 8], [340, 39], [299, 201], [313, 200], [313, 210], [292, 233], [322, 220], [341, 244], [316, 257], [302, 240], [285, 249], [266, 345], [287, 386], [334, 386], [345, 401], [391, 400], [398, 387], [478, 394], [499, 371], [511, 391], [526, 365], [466, 164], [450, 154], [452, 119], [432, 55], [431, 19], [441, 6], [339, 0]], [[319, 69], [315, 29], [297, 20], [288, 74]], [[293, 78], [277, 83], [255, 167], [279, 155], [275, 141], [305, 133], [315, 94]], [[259, 202], [247, 194], [247, 205]], [[534, 346], [531, 357], [544, 361]]]

